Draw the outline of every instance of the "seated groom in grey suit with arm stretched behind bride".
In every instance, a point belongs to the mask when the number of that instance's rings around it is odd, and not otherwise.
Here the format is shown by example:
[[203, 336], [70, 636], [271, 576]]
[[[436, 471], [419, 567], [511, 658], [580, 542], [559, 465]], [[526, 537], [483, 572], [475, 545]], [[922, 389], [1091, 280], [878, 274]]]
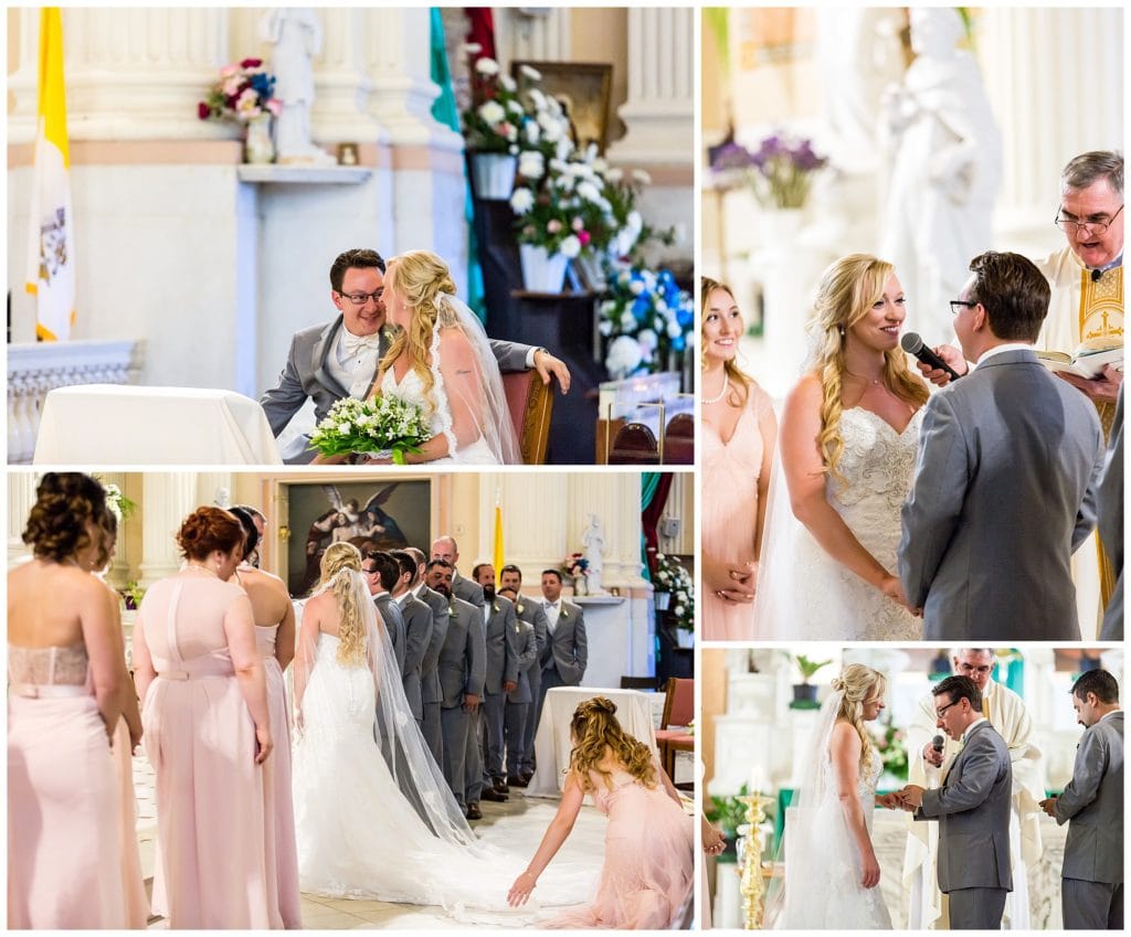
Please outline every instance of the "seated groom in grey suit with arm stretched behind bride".
[[[278, 436], [307, 400], [314, 401], [314, 418], [321, 420], [342, 398], [366, 396], [389, 350], [383, 290], [385, 260], [377, 251], [354, 248], [338, 254], [330, 267], [330, 302], [339, 315], [294, 333], [278, 385], [259, 398], [271, 433]], [[545, 348], [492, 339], [491, 349], [500, 371], [533, 367], [544, 383], [553, 375], [562, 393], [569, 390], [569, 368]], [[313, 457], [305, 449], [288, 453], [285, 461], [304, 463]]]

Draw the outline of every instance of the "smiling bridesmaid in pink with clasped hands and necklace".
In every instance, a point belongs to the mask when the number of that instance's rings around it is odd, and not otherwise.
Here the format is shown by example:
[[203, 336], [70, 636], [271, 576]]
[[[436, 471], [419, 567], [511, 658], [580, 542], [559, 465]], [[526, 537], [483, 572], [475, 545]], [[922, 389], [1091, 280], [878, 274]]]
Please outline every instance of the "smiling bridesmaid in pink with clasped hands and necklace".
[[701, 281], [703, 637], [749, 641], [777, 419], [735, 363], [744, 329], [731, 288]]

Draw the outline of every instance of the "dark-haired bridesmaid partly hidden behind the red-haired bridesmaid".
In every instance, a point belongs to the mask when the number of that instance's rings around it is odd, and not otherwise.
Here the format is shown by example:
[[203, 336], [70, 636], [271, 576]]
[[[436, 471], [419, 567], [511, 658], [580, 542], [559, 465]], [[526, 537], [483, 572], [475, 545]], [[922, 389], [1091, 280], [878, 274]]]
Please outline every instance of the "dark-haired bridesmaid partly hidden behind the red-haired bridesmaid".
[[291, 709], [283, 674], [294, 660], [294, 606], [276, 575], [257, 570], [249, 561], [259, 545], [259, 529], [244, 507], [231, 513], [243, 527], [243, 559], [230, 582], [243, 588], [256, 619], [256, 644], [264, 659], [267, 705], [275, 751], [264, 762], [264, 824], [267, 856], [267, 893], [274, 896], [271, 927], [302, 928], [299, 899], [299, 854], [294, 841], [291, 798]]

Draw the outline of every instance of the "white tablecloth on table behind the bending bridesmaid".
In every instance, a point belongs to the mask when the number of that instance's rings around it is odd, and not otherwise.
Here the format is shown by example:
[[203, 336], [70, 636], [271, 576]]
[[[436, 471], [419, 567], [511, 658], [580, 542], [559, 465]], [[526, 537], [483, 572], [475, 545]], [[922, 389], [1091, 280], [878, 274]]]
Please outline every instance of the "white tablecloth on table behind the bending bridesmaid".
[[638, 689], [601, 689], [593, 686], [555, 686], [546, 692], [542, 706], [542, 720], [534, 736], [534, 757], [538, 767], [526, 788], [527, 797], [558, 797], [566, 786], [566, 769], [569, 753], [573, 747], [569, 737], [569, 723], [578, 703], [594, 696], [606, 696], [616, 704], [616, 719], [629, 735], [658, 754], [656, 729], [651, 721], [653, 693]]

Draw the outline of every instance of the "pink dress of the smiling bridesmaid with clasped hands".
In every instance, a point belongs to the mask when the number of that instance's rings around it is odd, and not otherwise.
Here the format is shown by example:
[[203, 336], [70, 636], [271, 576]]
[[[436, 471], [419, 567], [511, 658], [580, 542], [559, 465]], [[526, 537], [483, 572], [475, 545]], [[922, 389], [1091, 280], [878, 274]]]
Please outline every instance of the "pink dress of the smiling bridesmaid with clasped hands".
[[[757, 384], [726, 442], [705, 425], [702, 463], [702, 552], [735, 566], [754, 552], [758, 527], [758, 478], [765, 442], [759, 420], [772, 413], [769, 396]], [[753, 606], [725, 602], [705, 589], [703, 637], [707, 641], [750, 641], [754, 636]]]

